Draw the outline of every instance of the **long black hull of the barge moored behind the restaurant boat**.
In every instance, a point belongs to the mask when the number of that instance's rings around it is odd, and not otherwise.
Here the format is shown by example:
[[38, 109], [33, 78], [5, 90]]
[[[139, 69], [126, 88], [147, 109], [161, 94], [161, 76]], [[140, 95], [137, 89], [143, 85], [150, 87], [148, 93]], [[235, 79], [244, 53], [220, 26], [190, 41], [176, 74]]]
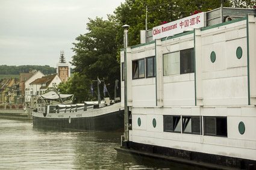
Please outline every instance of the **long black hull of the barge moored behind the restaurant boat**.
[[33, 116], [33, 126], [105, 132], [123, 132], [123, 110], [96, 117], [51, 118]]

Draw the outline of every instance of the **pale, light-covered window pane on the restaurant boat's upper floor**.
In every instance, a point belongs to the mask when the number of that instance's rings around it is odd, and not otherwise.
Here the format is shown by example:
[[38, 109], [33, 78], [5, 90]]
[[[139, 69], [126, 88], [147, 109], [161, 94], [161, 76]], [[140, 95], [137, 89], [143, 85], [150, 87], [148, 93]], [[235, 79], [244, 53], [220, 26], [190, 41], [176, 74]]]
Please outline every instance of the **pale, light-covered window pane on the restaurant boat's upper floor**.
[[164, 76], [180, 74], [180, 52], [163, 55], [163, 72]]

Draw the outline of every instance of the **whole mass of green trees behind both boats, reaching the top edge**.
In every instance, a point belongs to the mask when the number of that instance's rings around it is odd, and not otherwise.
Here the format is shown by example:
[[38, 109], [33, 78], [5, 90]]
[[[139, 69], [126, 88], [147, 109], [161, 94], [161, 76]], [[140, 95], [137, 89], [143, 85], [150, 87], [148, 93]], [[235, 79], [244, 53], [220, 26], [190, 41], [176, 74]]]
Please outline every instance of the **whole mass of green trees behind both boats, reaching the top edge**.
[[[90, 88], [93, 80], [99, 77], [104, 80], [113, 98], [114, 82], [116, 79], [120, 82], [122, 25], [130, 25], [128, 45], [134, 46], [140, 43], [140, 30], [145, 29], [146, 13], [148, 29], [152, 29], [161, 22], [172, 22], [190, 16], [195, 11], [208, 11], [220, 5], [220, 0], [126, 0], [114, 10], [113, 15], [108, 15], [107, 20], [89, 18], [87, 33], [78, 35], [76, 43], [73, 43], [75, 55], [72, 56], [71, 64], [75, 67], [75, 74], [66, 83], [60, 83], [58, 90], [75, 94], [76, 102], [97, 100], [95, 93], [94, 96], [90, 94]], [[223, 0], [224, 7], [253, 8], [254, 5], [254, 0]]]

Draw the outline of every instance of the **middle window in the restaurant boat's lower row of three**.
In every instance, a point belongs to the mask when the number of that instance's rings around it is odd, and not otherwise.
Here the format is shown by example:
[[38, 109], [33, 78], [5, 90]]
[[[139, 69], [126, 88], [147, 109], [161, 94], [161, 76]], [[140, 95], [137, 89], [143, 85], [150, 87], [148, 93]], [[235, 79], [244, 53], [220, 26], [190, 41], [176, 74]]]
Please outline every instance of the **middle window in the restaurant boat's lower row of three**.
[[201, 134], [200, 117], [183, 117], [183, 133]]

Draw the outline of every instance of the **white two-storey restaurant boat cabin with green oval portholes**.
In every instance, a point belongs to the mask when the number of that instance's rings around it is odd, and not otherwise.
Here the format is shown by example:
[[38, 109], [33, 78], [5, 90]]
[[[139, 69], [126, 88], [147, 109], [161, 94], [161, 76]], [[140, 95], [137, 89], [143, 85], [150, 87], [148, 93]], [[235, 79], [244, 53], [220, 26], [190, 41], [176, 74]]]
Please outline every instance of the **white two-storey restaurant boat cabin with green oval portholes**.
[[121, 50], [129, 147], [256, 168], [255, 33], [254, 9], [217, 8], [157, 26]]

